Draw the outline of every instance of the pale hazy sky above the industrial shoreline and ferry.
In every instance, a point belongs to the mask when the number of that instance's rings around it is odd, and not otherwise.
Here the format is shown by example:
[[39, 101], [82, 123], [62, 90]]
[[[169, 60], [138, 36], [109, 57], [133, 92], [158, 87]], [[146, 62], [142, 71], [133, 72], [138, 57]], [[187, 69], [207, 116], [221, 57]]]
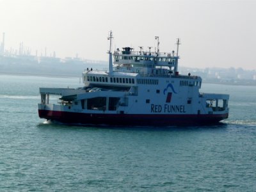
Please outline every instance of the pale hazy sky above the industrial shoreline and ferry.
[[108, 31], [114, 46], [175, 48], [180, 65], [256, 69], [256, 1], [225, 0], [0, 0], [0, 42], [32, 54], [108, 60]]

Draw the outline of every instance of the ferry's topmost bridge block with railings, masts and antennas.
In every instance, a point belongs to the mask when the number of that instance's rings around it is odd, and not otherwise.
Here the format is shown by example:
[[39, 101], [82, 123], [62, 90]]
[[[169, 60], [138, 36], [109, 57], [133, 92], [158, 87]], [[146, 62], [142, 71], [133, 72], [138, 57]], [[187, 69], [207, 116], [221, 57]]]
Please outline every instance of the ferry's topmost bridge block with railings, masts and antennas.
[[[113, 36], [110, 37], [113, 38]], [[114, 61], [112, 61], [112, 52], [109, 51], [109, 72], [112, 72], [114, 64], [115, 71], [137, 72], [144, 76], [177, 74], [179, 38], [177, 39], [177, 52], [159, 52], [159, 37], [155, 36], [155, 38], [157, 40], [156, 51], [151, 51], [152, 47], [148, 47], [148, 51], [144, 51], [143, 47], [140, 47], [140, 51], [133, 51], [131, 47], [123, 47], [122, 51], [120, 49], [114, 51]]]

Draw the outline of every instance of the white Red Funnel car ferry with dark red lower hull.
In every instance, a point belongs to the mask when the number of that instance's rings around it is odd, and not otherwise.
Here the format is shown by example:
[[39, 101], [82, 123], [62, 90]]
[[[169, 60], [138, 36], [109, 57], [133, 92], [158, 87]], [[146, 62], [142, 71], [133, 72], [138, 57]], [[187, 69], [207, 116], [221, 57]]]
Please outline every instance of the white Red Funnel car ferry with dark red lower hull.
[[[87, 68], [82, 88], [40, 88], [40, 118], [65, 124], [173, 126], [218, 124], [228, 118], [227, 94], [202, 93], [202, 78], [179, 74], [177, 51], [143, 47], [111, 51], [108, 70]], [[50, 95], [58, 102], [51, 103]], [[52, 96], [51, 96], [52, 97]]]

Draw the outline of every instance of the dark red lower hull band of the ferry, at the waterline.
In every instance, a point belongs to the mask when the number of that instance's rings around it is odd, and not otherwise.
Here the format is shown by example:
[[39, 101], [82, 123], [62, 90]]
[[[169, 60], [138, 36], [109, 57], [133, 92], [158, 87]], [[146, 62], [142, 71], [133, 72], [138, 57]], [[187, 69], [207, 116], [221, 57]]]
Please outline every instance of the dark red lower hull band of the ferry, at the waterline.
[[101, 113], [73, 113], [66, 111], [38, 110], [40, 118], [57, 120], [66, 124], [106, 124], [106, 125], [206, 125], [216, 124], [228, 113], [221, 115], [141, 115], [141, 114], [101, 114]]

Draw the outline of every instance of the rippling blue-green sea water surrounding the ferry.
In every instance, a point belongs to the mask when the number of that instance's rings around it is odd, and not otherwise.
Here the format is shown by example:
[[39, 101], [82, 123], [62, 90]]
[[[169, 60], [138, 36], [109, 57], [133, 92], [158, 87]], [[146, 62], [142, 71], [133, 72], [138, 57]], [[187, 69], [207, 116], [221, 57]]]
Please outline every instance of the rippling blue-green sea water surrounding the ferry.
[[79, 78], [0, 76], [0, 191], [256, 191], [256, 88], [211, 127], [76, 127], [38, 118], [38, 88]]

